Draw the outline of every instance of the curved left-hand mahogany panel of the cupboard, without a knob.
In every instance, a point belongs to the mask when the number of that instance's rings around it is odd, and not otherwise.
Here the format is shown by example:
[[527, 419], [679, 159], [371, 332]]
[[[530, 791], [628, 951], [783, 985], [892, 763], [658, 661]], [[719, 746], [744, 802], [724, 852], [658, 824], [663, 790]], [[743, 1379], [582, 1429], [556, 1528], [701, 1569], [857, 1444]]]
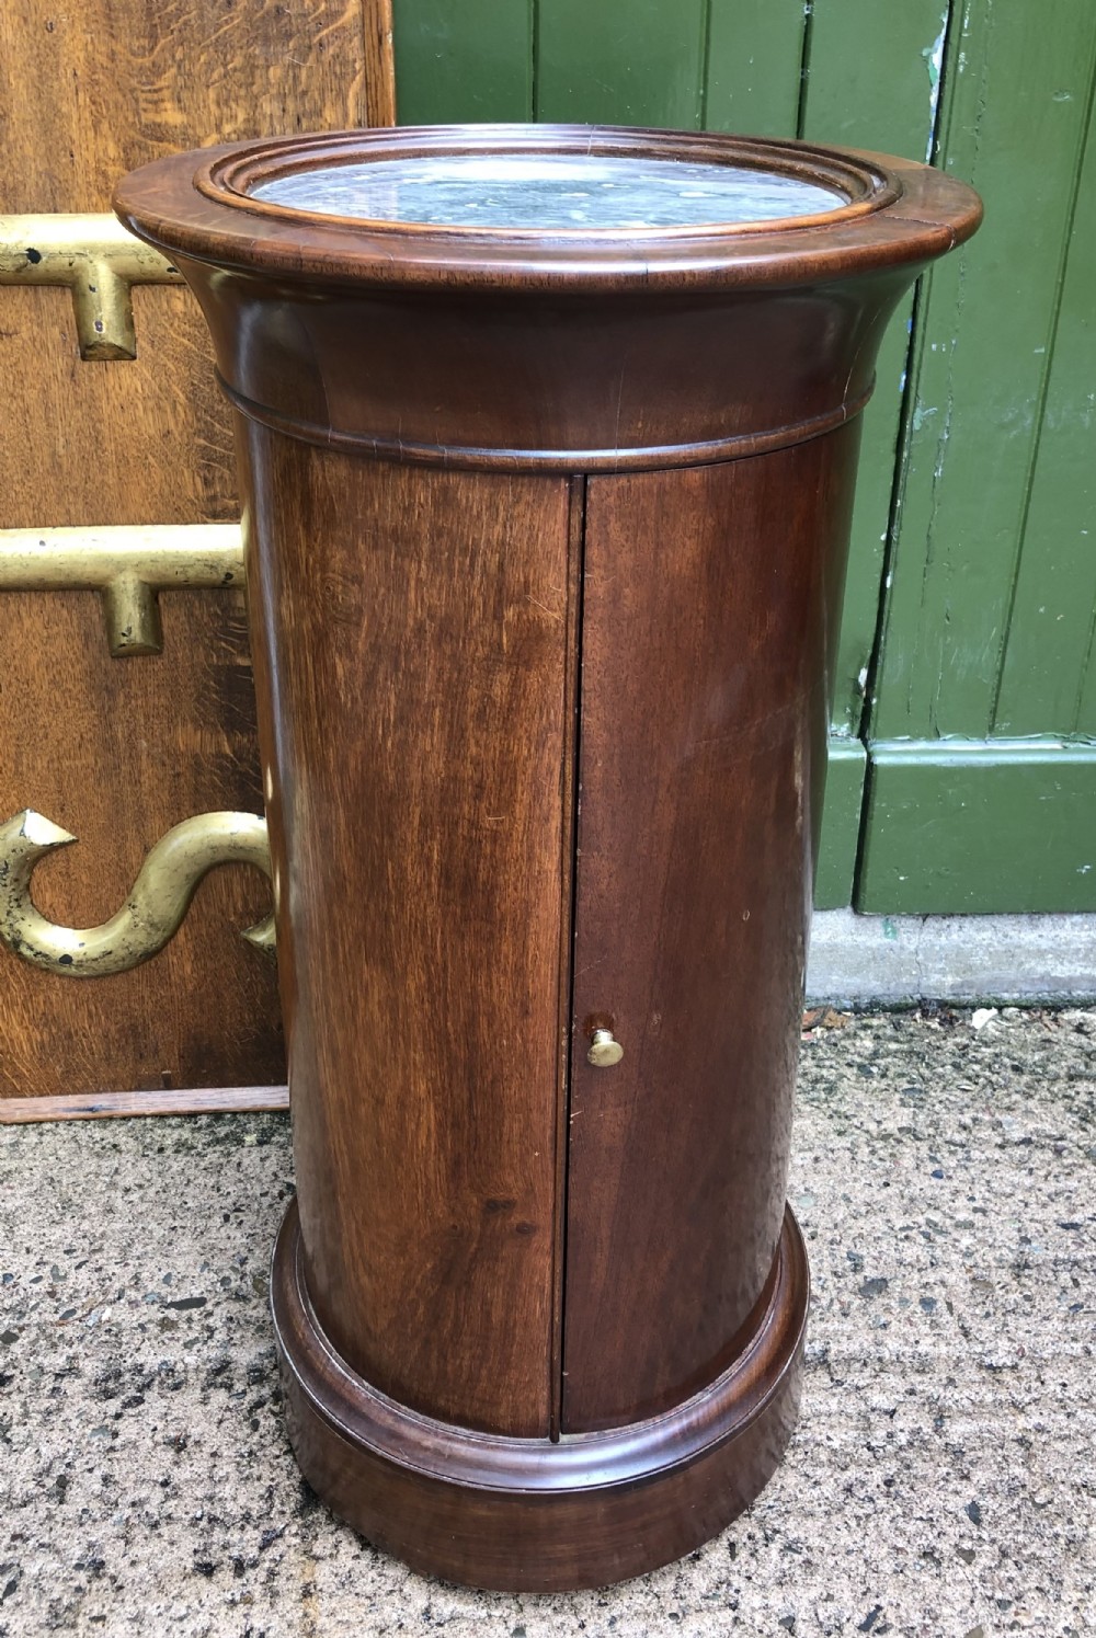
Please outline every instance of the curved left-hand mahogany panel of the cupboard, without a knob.
[[382, 1392], [547, 1433], [570, 486], [244, 437], [313, 1299]]

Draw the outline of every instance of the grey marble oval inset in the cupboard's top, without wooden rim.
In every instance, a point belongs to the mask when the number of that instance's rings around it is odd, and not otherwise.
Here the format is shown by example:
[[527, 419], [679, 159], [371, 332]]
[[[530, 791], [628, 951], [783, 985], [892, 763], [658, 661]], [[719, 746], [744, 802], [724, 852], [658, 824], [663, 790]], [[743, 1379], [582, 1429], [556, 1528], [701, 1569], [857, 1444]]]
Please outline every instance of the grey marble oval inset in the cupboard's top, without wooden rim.
[[251, 197], [321, 216], [447, 228], [737, 226], [840, 210], [836, 188], [778, 170], [600, 154], [442, 154], [316, 165]]

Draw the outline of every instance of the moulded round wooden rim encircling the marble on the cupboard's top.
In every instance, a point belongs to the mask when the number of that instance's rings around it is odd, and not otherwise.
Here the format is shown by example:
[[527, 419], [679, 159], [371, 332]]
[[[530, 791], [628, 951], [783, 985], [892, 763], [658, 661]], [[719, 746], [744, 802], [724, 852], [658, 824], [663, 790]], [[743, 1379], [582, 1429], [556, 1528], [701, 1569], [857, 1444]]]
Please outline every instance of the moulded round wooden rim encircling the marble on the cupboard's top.
[[[827, 188], [836, 205], [750, 223], [539, 231], [337, 216], [252, 193], [318, 167], [490, 154], [734, 165]], [[567, 124], [405, 126], [233, 143], [143, 165], [120, 182], [115, 208], [169, 256], [290, 278], [583, 292], [801, 283], [908, 265], [944, 254], [981, 219], [973, 188], [909, 159], [709, 131]]]

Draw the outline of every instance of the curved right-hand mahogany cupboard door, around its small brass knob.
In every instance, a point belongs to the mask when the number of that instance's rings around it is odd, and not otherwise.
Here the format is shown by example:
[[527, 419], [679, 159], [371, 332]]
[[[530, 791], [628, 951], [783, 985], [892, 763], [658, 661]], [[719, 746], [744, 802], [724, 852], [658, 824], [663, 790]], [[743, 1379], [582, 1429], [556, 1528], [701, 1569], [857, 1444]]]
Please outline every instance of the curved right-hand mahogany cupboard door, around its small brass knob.
[[567, 1432], [711, 1381], [773, 1263], [855, 437], [588, 485]]

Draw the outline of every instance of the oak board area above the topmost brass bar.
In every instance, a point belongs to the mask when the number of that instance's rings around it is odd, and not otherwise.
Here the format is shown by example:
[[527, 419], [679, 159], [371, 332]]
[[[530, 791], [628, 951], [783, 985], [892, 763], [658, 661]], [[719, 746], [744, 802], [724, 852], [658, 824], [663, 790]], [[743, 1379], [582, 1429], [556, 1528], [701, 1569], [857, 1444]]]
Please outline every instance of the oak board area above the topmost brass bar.
[[110, 210], [120, 175], [180, 147], [370, 124], [364, 15], [360, 0], [0, 8], [5, 211]]

